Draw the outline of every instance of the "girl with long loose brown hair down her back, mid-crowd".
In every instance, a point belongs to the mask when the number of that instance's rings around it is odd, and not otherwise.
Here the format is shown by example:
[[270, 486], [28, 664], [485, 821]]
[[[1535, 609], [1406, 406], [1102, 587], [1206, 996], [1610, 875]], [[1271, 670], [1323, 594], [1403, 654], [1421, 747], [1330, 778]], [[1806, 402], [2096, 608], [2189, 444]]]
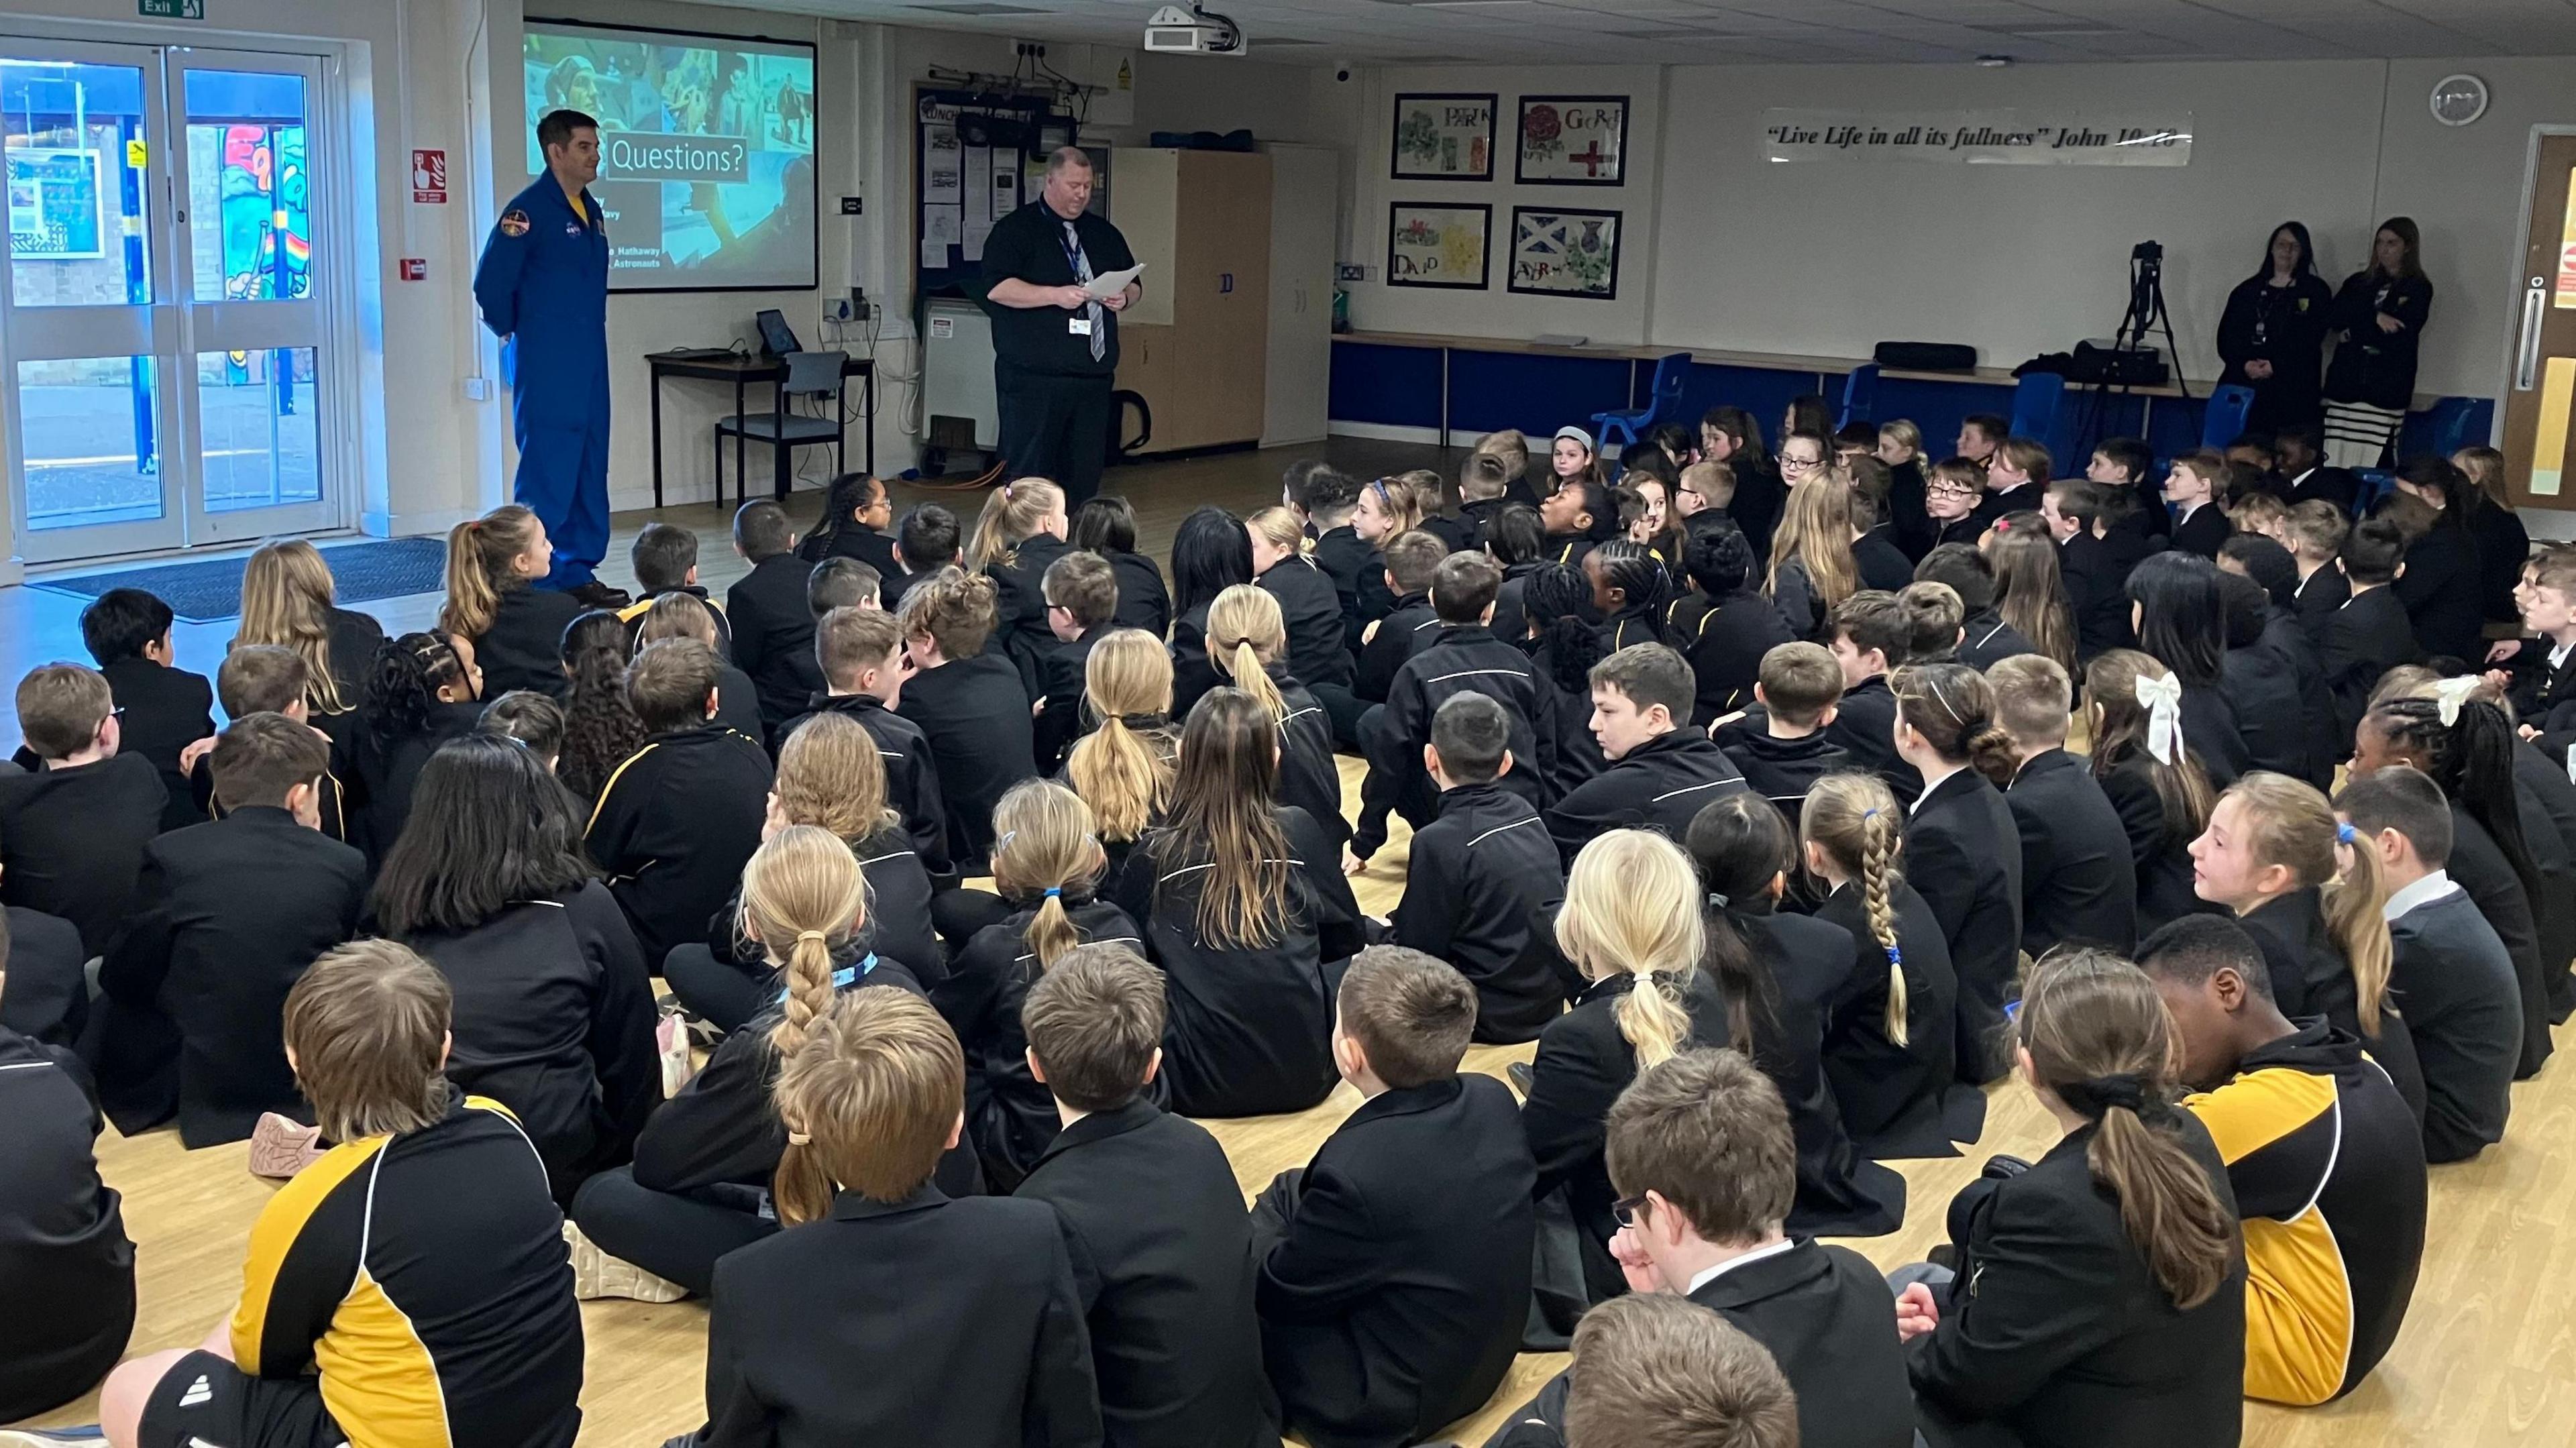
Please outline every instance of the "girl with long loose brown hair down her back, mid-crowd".
[[1164, 1077], [1182, 1116], [1306, 1110], [1332, 1092], [1324, 966], [1363, 946], [1332, 835], [1280, 804], [1278, 724], [1218, 688], [1190, 711], [1164, 822], [1118, 907], [1164, 969]]

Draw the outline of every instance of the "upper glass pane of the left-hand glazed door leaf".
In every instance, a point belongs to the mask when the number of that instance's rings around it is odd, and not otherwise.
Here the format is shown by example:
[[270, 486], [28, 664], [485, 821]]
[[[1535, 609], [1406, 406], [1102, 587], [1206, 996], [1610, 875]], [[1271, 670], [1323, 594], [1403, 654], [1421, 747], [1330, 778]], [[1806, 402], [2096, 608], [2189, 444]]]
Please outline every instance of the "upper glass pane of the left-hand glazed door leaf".
[[0, 67], [8, 255], [18, 307], [152, 301], [144, 229], [144, 72], [131, 64]]

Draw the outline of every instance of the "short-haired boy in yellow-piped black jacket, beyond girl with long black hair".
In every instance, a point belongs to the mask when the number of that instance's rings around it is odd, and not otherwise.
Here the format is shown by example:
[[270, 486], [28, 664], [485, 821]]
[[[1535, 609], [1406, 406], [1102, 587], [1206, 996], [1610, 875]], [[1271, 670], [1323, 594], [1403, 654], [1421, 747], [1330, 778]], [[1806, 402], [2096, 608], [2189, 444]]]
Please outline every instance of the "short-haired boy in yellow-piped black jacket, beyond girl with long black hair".
[[647, 961], [696, 940], [760, 848], [770, 757], [714, 721], [716, 672], [716, 652], [696, 639], [636, 654], [626, 701], [644, 721], [644, 747], [600, 786], [585, 830]]

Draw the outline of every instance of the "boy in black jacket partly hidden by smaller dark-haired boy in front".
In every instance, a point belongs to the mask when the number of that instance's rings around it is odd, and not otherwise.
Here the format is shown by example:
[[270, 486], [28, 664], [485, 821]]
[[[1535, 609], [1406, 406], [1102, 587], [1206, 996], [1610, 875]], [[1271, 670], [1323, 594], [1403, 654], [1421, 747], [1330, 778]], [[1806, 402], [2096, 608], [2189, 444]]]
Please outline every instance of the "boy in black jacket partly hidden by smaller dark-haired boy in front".
[[[1502, 572], [1479, 554], [1450, 554], [1432, 567], [1430, 600], [1440, 618], [1425, 642], [1386, 685], [1386, 706], [1363, 719], [1368, 734], [1368, 776], [1360, 781], [1360, 827], [1350, 840], [1350, 863], [1365, 863], [1386, 845], [1388, 809], [1419, 830], [1437, 814], [1430, 776], [1422, 773], [1422, 747], [1432, 737], [1432, 716], [1461, 693], [1481, 693], [1512, 716], [1515, 773], [1504, 788], [1530, 806], [1553, 796], [1548, 783], [1556, 760], [1561, 709], [1556, 691], [1538, 675], [1538, 662], [1517, 642], [1497, 636], [1494, 590]], [[1592, 639], [1584, 639], [1592, 649]]]

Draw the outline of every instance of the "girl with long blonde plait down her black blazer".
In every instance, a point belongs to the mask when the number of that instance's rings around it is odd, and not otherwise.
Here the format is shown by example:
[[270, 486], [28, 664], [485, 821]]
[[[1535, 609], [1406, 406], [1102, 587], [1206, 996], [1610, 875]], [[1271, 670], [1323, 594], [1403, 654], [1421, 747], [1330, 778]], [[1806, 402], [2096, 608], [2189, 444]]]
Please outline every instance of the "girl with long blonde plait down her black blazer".
[[1950, 940], [1906, 884], [1906, 814], [1875, 773], [1832, 773], [1798, 814], [1816, 920], [1852, 935], [1852, 989], [1824, 1018], [1824, 1074], [1852, 1144], [1870, 1159], [1947, 1157], [1976, 1141], [1986, 1095], [1958, 1082], [1958, 976]]

